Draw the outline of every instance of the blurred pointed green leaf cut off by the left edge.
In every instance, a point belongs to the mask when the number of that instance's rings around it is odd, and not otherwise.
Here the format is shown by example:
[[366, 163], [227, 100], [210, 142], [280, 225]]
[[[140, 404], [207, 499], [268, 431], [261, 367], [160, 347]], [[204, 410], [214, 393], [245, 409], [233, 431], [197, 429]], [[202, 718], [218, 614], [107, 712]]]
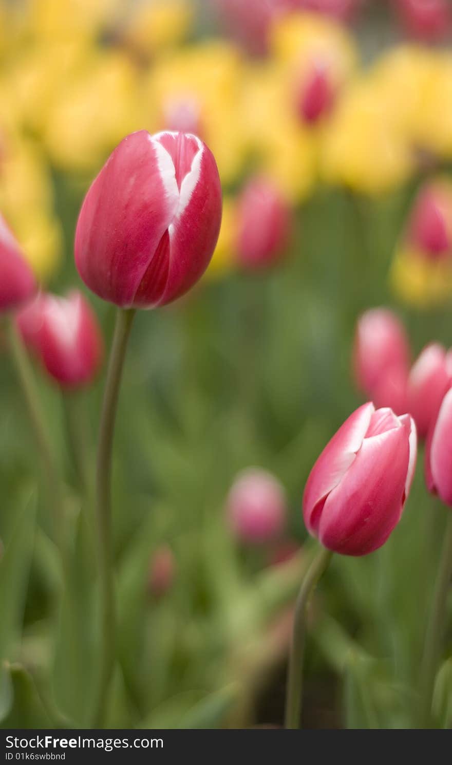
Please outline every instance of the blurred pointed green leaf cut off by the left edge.
[[33, 554], [36, 493], [33, 491], [18, 515], [5, 554], [0, 560], [0, 660], [11, 659], [22, 631], [28, 575]]

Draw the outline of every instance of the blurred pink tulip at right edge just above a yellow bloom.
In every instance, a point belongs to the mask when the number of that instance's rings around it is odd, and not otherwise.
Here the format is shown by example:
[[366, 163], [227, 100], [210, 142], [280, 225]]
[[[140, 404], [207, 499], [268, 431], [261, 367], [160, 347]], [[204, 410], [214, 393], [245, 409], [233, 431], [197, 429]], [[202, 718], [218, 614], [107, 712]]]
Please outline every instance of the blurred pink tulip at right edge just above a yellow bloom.
[[[448, 192], [448, 194], [447, 194]], [[452, 194], [445, 184], [424, 186], [408, 222], [408, 239], [416, 251], [432, 260], [450, 255]]]

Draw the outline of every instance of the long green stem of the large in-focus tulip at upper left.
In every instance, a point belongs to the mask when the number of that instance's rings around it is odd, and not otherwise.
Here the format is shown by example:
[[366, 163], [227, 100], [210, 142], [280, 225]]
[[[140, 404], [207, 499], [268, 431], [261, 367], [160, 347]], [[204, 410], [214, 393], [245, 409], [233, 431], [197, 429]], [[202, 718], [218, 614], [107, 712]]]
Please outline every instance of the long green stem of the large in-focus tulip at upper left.
[[115, 587], [112, 555], [112, 513], [110, 477], [112, 470], [112, 444], [119, 386], [125, 360], [128, 336], [135, 315], [133, 310], [119, 308], [116, 314], [115, 334], [112, 341], [106, 386], [100, 420], [97, 452], [97, 535], [99, 545], [99, 578], [101, 588], [101, 650], [99, 691], [93, 715], [93, 727], [102, 728], [106, 715], [109, 685], [115, 663]]

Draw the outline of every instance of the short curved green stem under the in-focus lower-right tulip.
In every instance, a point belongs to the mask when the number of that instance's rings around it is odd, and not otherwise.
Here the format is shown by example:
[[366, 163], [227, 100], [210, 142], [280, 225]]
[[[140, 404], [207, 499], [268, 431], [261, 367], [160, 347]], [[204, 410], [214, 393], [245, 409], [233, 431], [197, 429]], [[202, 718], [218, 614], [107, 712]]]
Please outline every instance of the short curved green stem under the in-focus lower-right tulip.
[[300, 728], [301, 695], [303, 690], [303, 657], [307, 628], [307, 607], [314, 593], [317, 582], [330, 563], [330, 550], [320, 548], [301, 584], [295, 604], [294, 630], [292, 633], [291, 653], [289, 656], [288, 682], [285, 707], [285, 727], [291, 730]]

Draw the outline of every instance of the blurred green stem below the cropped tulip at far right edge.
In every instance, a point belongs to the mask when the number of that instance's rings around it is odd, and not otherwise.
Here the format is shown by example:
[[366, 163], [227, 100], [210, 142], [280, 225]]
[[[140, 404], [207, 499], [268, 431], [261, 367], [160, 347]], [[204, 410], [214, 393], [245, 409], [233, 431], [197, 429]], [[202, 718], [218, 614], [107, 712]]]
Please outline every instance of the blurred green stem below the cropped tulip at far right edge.
[[446, 619], [447, 594], [452, 579], [452, 513], [448, 512], [447, 528], [444, 534], [440, 568], [434, 588], [434, 598], [425, 634], [424, 656], [421, 663], [420, 727], [430, 728], [431, 701], [434, 679], [441, 654]]

